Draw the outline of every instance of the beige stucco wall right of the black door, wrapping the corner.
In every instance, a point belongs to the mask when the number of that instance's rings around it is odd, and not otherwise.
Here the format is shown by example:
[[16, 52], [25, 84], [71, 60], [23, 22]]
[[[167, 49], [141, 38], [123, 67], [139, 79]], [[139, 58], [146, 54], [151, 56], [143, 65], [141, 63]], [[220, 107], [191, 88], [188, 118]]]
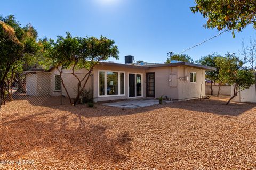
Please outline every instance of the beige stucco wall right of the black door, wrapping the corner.
[[[155, 72], [155, 97], [167, 96], [173, 100], [187, 100], [205, 96], [205, 70], [187, 66], [151, 68]], [[196, 72], [196, 83], [190, 82], [190, 72]], [[177, 86], [170, 87], [169, 75], [176, 74]], [[188, 81], [186, 77], [188, 76]], [[203, 82], [203, 83], [202, 83]], [[201, 91], [202, 84], [202, 91]]]

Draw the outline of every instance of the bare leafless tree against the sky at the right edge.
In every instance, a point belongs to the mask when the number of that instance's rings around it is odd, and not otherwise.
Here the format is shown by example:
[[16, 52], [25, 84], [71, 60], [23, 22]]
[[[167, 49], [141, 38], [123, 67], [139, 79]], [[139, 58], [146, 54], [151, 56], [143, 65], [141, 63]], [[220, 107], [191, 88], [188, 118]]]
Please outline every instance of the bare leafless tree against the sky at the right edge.
[[245, 46], [242, 42], [242, 51], [239, 52], [244, 57], [244, 63], [249, 63], [253, 71], [256, 70], [256, 38], [250, 39], [250, 45]]

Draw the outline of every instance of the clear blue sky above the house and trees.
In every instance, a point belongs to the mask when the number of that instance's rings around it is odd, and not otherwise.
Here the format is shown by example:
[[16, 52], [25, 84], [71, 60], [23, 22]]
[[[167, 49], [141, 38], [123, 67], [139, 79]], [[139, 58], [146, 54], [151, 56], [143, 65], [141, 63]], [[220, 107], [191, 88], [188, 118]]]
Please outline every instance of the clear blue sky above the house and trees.
[[[163, 63], [167, 52], [179, 53], [201, 41], [217, 35], [217, 30], [205, 29], [205, 19], [193, 14], [189, 0], [61, 0], [61, 1], [3, 1], [1, 15], [14, 14], [22, 25], [31, 23], [39, 37], [55, 39], [65, 35], [106, 36], [115, 40], [124, 63], [125, 55], [134, 59]], [[185, 54], [194, 60], [217, 52], [238, 53], [242, 40], [249, 43], [250, 36], [256, 35], [247, 27], [236, 38], [226, 32]]]

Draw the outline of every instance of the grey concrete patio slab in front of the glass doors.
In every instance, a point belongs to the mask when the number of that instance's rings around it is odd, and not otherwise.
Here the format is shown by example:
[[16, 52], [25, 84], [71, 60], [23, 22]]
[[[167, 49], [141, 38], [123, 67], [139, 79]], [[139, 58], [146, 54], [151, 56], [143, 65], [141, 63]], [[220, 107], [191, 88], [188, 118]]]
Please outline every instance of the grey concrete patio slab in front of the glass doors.
[[[171, 103], [171, 102], [172, 101], [164, 100], [163, 104]], [[158, 104], [159, 104], [159, 100], [157, 99], [134, 99], [134, 100], [125, 100], [125, 101], [114, 101], [111, 103], [103, 103], [102, 105], [132, 109], [132, 108], [153, 106]]]

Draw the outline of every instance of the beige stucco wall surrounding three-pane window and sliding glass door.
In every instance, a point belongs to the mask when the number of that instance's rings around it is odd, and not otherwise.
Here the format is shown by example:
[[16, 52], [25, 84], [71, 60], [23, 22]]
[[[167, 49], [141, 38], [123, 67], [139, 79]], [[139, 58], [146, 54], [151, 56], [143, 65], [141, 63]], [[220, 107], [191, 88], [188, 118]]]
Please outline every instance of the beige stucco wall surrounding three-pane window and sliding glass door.
[[[125, 95], [122, 96], [99, 96], [98, 95], [98, 71], [105, 70], [105, 71], [122, 71], [125, 72]], [[120, 100], [120, 99], [127, 99], [129, 98], [129, 73], [135, 74], [142, 74], [142, 96], [146, 97], [146, 72], [144, 69], [132, 69], [132, 68], [125, 68], [125, 67], [111, 67], [111, 66], [104, 66], [104, 65], [97, 65], [93, 70], [93, 96], [94, 101], [108, 101], [108, 100]], [[141, 98], [137, 97], [137, 98]]]

